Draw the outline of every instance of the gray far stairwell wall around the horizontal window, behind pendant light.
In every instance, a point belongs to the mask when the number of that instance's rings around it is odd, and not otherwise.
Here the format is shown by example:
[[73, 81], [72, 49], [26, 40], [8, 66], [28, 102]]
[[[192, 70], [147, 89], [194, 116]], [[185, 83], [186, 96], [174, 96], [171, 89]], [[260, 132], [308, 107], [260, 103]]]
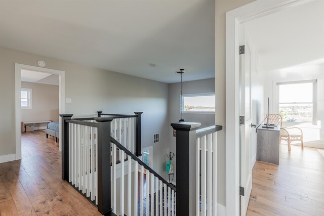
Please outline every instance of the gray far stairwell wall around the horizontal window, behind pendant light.
[[[185, 75], [185, 74], [184, 74]], [[215, 92], [215, 79], [202, 79], [196, 81], [183, 82], [182, 94], [195, 94], [195, 93], [210, 93]], [[216, 95], [217, 98], [217, 95]], [[169, 119], [170, 123], [178, 122], [181, 118], [180, 115], [180, 83], [169, 84]], [[188, 122], [200, 122], [200, 128], [215, 125], [215, 114], [192, 114], [183, 113], [183, 119]], [[169, 124], [169, 139], [170, 139], [170, 152], [176, 153], [176, 139], [173, 137], [173, 129]], [[179, 153], [180, 154], [180, 153]], [[177, 155], [177, 153], [176, 153]], [[168, 158], [167, 158], [168, 159]], [[177, 166], [172, 163], [175, 174]], [[174, 177], [176, 182], [176, 175]]]

